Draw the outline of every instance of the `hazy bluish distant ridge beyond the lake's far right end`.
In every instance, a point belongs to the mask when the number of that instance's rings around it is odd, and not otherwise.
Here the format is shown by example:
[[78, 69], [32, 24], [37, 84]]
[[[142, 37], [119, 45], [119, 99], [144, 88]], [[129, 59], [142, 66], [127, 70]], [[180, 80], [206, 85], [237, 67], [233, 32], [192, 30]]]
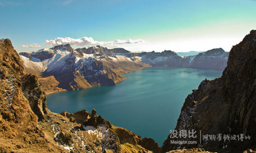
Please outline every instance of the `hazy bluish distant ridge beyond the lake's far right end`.
[[225, 52], [222, 48], [217, 48], [188, 57], [179, 56], [174, 51], [123, 52], [119, 53], [119, 55], [135, 57], [136, 59], [140, 59], [141, 62], [148, 63], [151, 66], [203, 68], [223, 71], [227, 65], [226, 62], [229, 52]]

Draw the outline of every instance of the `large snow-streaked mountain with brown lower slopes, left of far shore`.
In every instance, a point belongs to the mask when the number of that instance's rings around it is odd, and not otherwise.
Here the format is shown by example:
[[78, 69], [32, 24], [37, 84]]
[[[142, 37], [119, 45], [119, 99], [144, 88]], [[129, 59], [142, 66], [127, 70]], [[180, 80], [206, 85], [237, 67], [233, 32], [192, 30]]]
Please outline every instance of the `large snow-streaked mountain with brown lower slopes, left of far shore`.
[[127, 73], [147, 66], [145, 63], [138, 65], [139, 61], [133, 66], [131, 58], [116, 55], [101, 46], [74, 50], [69, 44], [59, 45], [31, 53], [20, 53], [20, 57], [26, 73], [41, 76], [39, 81], [45, 91], [115, 85], [125, 78], [113, 70]]

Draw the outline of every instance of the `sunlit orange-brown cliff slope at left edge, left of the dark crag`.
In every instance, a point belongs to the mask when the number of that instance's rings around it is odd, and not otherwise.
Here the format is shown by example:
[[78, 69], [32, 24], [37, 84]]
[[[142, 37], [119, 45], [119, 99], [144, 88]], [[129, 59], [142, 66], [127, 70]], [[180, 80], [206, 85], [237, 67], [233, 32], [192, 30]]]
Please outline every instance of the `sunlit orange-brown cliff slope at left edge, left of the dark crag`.
[[37, 115], [22, 91], [24, 67], [10, 40], [0, 40], [0, 152], [61, 152], [37, 127]]

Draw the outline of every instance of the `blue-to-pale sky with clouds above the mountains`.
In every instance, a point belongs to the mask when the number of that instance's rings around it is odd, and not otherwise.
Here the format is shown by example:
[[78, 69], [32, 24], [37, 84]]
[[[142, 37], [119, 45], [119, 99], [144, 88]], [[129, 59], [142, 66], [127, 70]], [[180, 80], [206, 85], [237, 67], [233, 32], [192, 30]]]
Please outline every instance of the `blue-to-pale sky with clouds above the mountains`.
[[230, 51], [256, 29], [256, 0], [0, 0], [18, 51], [70, 43], [129, 51]]

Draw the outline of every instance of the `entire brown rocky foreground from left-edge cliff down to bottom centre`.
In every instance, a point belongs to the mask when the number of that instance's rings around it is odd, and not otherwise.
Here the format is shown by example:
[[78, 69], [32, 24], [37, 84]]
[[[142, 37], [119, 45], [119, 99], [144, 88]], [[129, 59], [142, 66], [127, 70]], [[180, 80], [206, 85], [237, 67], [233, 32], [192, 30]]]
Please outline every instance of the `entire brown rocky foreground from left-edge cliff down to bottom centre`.
[[1, 153], [160, 151], [154, 140], [142, 139], [131, 131], [110, 124], [95, 110], [92, 113], [86, 110], [61, 114], [50, 112], [37, 76], [24, 74], [22, 60], [8, 39], [0, 40], [0, 87]]

